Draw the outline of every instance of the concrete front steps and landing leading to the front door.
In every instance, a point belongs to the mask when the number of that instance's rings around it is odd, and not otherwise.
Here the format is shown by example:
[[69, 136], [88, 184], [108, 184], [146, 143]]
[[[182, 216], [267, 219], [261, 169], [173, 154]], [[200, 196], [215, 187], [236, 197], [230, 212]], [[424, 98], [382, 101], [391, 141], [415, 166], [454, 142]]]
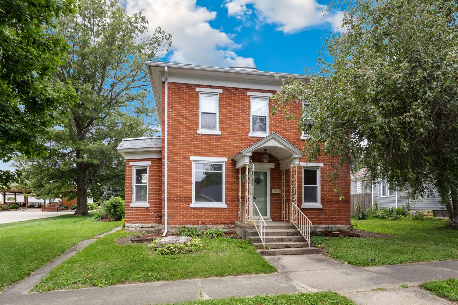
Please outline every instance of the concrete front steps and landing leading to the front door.
[[305, 241], [299, 230], [287, 222], [266, 222], [265, 244], [269, 249], [262, 249], [261, 237], [254, 225], [235, 222], [235, 231], [243, 239], [251, 241], [261, 255], [316, 254], [320, 250]]

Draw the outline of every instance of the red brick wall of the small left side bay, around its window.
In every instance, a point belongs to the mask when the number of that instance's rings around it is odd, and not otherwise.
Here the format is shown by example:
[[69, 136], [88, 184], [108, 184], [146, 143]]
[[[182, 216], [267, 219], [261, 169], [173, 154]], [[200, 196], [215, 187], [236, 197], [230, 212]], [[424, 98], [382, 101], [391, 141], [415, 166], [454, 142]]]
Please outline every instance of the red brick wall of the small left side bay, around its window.
[[[130, 207], [132, 202], [132, 166], [130, 162], [151, 161], [148, 166], [148, 203], [149, 207]], [[160, 224], [162, 170], [161, 159], [131, 159], [125, 161], [125, 223]]]

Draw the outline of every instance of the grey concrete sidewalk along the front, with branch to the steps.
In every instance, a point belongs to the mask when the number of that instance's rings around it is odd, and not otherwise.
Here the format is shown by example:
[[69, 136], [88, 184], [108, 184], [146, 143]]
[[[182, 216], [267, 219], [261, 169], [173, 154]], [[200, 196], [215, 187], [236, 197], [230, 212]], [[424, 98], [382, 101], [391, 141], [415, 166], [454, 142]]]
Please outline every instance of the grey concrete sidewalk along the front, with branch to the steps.
[[[279, 273], [29, 294], [19, 291], [11, 294], [6, 290], [0, 294], [0, 304], [163, 304], [200, 298], [331, 290], [358, 304], [451, 305], [415, 286], [425, 281], [458, 277], [458, 261], [361, 268], [320, 255], [272, 256], [267, 260], [277, 266]], [[401, 284], [414, 287], [401, 288]], [[376, 288], [386, 290], [372, 290]]]

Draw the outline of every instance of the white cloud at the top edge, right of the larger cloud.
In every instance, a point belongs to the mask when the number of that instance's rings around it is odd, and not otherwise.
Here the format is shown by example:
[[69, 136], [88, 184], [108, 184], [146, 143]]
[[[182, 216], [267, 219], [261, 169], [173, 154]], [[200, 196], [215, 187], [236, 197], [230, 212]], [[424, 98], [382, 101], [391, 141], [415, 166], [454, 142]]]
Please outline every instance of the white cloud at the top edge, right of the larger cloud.
[[[316, 0], [225, 0], [228, 16], [246, 21], [252, 14], [247, 7], [255, 8], [259, 20], [277, 25], [277, 30], [284, 33], [299, 32], [307, 27], [331, 27], [337, 31], [343, 19], [343, 12], [327, 15], [327, 5]], [[324, 10], [324, 11], [323, 11]]]

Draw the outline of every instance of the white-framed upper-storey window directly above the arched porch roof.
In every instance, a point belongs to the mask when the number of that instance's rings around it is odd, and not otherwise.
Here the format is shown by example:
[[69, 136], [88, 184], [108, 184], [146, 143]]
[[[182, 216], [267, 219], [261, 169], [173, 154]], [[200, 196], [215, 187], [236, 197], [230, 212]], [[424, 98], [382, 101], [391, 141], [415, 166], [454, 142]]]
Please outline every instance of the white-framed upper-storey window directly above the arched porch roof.
[[269, 134], [269, 98], [250, 96], [250, 134], [251, 137], [265, 137]]

